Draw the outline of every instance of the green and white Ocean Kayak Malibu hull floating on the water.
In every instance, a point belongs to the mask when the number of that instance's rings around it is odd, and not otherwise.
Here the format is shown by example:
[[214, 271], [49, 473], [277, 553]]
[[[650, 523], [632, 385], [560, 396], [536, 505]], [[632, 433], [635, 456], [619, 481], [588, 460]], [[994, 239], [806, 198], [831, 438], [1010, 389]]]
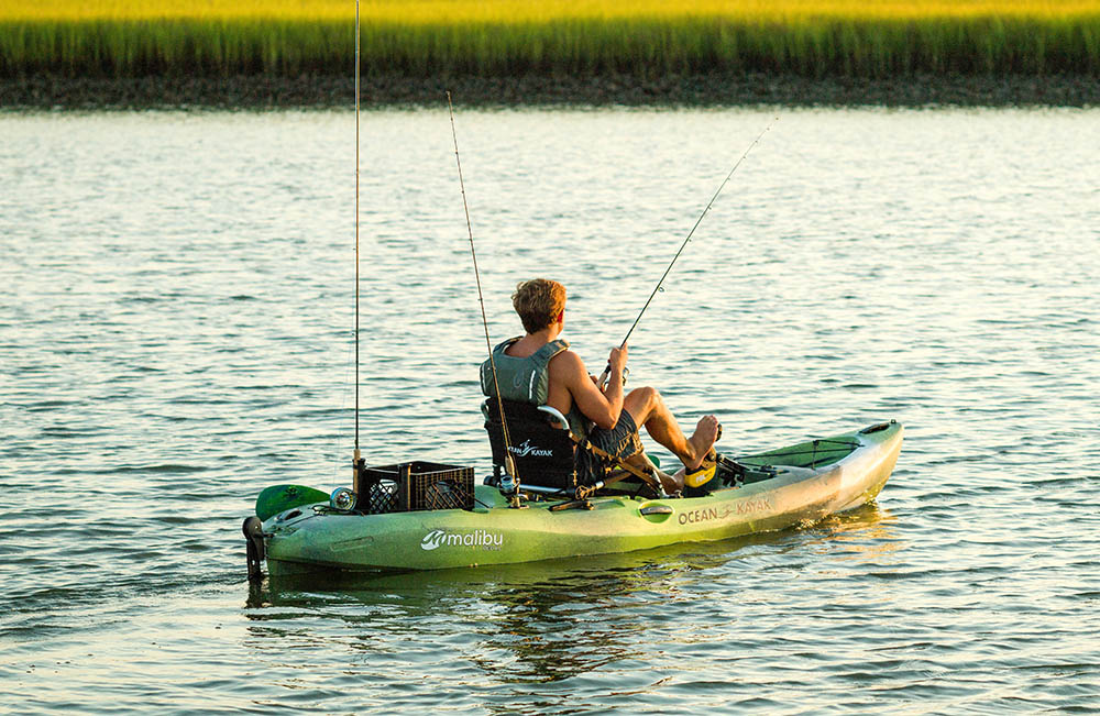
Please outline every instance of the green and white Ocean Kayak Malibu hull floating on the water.
[[[321, 491], [278, 485], [245, 520], [273, 577], [317, 571], [388, 572], [645, 550], [781, 530], [875, 499], [901, 452], [890, 421], [727, 460], [736, 474], [697, 497], [645, 497], [629, 483], [584, 500], [473, 487], [472, 508], [360, 514]], [[639, 486], [640, 487], [640, 486]], [[338, 491], [339, 492], [339, 491]], [[518, 506], [517, 506], [518, 505]], [[564, 507], [564, 509], [563, 509]], [[252, 525], [250, 532], [250, 522]]]

